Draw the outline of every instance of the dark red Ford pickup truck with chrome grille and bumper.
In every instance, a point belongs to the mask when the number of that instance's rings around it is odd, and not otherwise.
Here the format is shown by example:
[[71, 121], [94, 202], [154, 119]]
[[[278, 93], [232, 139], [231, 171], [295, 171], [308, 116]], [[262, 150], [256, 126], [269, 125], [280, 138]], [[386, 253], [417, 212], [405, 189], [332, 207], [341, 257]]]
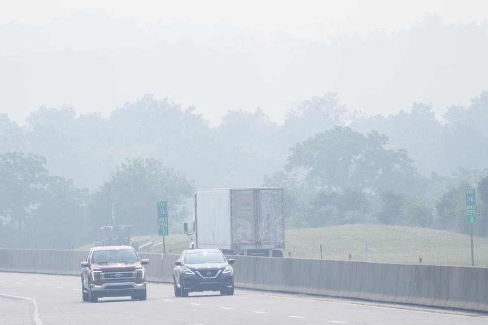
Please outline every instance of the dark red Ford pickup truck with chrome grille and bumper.
[[101, 297], [131, 296], [146, 300], [148, 259], [140, 259], [131, 246], [98, 246], [81, 262], [83, 301], [97, 302]]

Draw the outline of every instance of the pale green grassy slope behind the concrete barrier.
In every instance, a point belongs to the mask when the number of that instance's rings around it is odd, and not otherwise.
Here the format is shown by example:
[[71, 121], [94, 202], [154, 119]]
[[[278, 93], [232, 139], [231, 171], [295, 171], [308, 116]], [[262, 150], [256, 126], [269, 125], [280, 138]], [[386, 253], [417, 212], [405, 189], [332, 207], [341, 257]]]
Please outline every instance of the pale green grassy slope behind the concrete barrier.
[[[161, 236], [135, 236], [140, 244], [149, 241], [158, 244]], [[166, 252], [179, 254], [188, 248], [187, 235], [165, 237]], [[78, 249], [92, 247], [87, 244]], [[285, 231], [285, 256], [320, 258], [320, 245], [324, 259], [348, 259], [382, 263], [471, 266], [470, 236], [448, 231], [392, 226], [380, 224], [348, 224], [314, 229], [290, 229]], [[368, 246], [368, 251], [366, 251]], [[147, 252], [147, 250], [145, 250]], [[162, 253], [163, 245], [149, 249]], [[475, 266], [488, 267], [488, 238], [474, 238]]]

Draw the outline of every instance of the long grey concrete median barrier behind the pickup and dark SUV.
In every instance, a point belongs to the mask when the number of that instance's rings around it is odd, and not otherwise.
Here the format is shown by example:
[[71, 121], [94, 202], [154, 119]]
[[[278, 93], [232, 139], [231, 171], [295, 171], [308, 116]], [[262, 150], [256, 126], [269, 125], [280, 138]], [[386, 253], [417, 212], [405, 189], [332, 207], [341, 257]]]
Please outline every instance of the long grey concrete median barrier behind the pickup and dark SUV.
[[[79, 275], [86, 251], [0, 249], [0, 271]], [[179, 255], [139, 253], [147, 280], [172, 282]], [[229, 256], [235, 286], [488, 312], [488, 268]]]

